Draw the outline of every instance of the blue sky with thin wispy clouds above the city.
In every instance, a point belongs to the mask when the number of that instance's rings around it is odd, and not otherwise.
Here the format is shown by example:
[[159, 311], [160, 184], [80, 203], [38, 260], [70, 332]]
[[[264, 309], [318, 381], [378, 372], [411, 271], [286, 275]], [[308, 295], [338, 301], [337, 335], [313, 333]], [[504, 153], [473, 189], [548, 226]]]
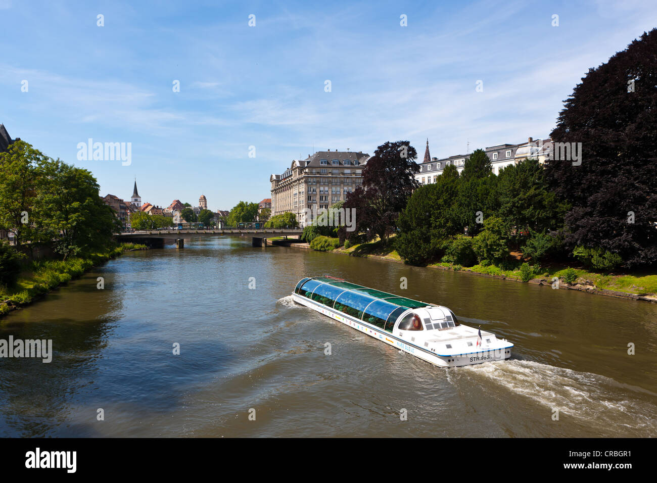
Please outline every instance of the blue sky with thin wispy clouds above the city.
[[[129, 199], [136, 177], [143, 201], [229, 210], [313, 147], [546, 137], [588, 68], [655, 26], [657, 4], [633, 0], [0, 0], [0, 122], [101, 195]], [[131, 164], [78, 160], [89, 138], [131, 143]]]

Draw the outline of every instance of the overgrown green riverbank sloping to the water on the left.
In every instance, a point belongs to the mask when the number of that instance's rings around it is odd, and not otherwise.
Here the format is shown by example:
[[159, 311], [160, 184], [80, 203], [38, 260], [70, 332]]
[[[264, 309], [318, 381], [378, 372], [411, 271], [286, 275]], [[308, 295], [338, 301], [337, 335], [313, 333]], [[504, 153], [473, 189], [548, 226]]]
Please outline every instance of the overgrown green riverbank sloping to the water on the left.
[[81, 277], [93, 267], [104, 264], [123, 252], [134, 250], [147, 250], [147, 246], [123, 243], [108, 252], [90, 254], [85, 258], [30, 262], [11, 288], [0, 287], [0, 317], [40, 300], [60, 285]]

